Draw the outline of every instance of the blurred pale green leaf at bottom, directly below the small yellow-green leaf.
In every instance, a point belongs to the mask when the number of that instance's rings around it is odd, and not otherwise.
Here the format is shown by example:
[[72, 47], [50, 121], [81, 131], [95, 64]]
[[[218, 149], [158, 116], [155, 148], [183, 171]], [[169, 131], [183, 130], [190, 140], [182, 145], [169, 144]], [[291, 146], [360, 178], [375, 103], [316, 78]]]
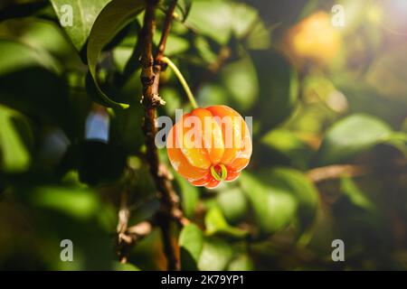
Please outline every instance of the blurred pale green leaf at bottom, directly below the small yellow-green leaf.
[[198, 268], [201, 271], [222, 271], [229, 264], [232, 256], [233, 250], [230, 244], [221, 238], [205, 238]]

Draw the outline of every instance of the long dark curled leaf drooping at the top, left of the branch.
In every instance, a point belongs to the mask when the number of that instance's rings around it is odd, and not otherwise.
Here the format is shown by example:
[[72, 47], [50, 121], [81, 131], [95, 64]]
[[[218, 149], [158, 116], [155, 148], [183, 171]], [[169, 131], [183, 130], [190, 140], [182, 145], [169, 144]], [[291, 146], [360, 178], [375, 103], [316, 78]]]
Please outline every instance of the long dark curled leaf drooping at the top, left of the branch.
[[90, 75], [99, 96], [95, 101], [105, 107], [127, 108], [128, 104], [113, 101], [100, 89], [96, 72], [99, 54], [103, 47], [108, 44], [127, 23], [134, 20], [137, 14], [141, 13], [144, 6], [145, 2], [141, 0], [112, 1], [100, 12], [90, 31], [87, 56]]

